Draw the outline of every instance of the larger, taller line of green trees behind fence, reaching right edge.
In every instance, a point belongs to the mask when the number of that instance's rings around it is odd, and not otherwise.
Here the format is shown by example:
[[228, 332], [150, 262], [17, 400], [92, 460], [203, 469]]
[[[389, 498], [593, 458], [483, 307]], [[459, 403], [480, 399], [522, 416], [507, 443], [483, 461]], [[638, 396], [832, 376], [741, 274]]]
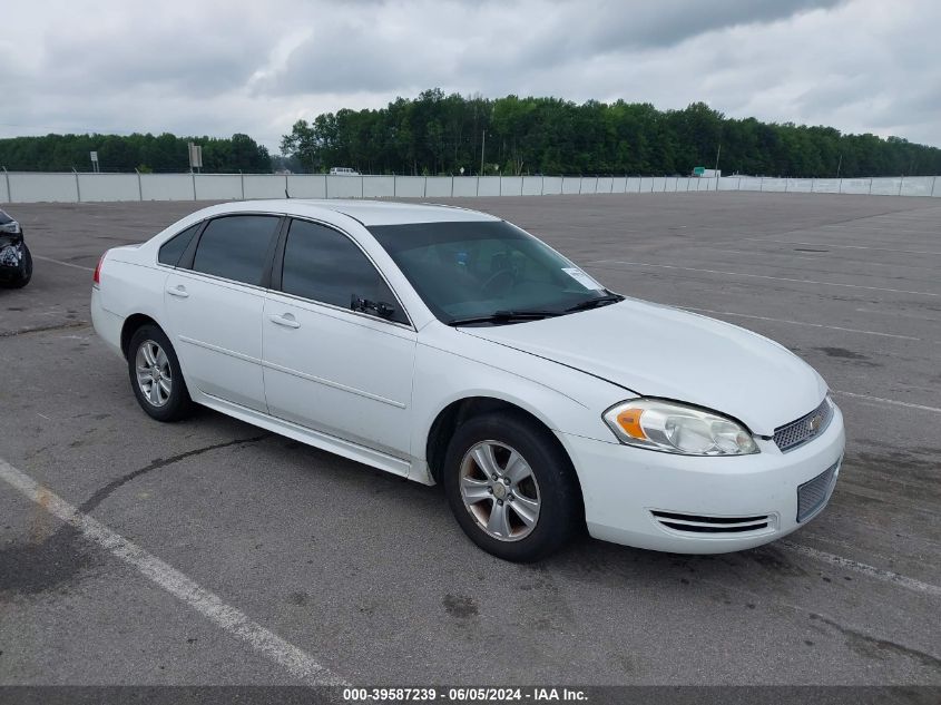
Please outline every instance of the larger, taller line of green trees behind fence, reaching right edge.
[[832, 127], [733, 119], [694, 102], [575, 104], [425, 90], [378, 110], [298, 120], [281, 144], [294, 170], [365, 174], [724, 174], [791, 177], [941, 174], [941, 149]]

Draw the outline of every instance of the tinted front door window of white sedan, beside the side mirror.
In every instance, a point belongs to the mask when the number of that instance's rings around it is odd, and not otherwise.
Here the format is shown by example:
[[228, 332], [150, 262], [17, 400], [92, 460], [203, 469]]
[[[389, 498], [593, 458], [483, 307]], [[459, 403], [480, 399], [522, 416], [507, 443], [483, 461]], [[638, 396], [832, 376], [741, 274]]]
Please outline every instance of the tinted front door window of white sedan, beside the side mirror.
[[282, 290], [312, 301], [353, 309], [354, 300], [382, 304], [360, 307], [364, 313], [408, 323], [395, 295], [372, 262], [345, 235], [324, 225], [294, 221], [284, 246]]

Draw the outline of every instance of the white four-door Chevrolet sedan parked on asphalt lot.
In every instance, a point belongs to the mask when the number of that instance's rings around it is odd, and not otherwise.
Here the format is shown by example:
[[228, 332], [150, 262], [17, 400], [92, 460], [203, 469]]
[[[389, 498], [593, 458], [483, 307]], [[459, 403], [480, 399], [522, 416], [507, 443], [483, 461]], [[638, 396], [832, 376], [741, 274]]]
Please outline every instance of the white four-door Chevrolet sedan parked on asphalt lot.
[[95, 272], [140, 407], [193, 403], [427, 484], [509, 560], [591, 536], [686, 554], [815, 517], [843, 457], [823, 379], [761, 335], [615, 294], [444, 206], [205, 208]]

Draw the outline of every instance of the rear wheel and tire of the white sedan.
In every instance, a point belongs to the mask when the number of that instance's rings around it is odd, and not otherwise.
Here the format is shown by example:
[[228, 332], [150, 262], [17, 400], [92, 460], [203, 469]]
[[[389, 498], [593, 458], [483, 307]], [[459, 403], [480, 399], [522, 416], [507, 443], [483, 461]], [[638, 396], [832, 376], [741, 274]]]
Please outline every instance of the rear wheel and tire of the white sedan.
[[158, 326], [141, 325], [134, 332], [127, 346], [127, 366], [137, 403], [153, 419], [173, 422], [192, 413], [193, 401], [179, 360]]

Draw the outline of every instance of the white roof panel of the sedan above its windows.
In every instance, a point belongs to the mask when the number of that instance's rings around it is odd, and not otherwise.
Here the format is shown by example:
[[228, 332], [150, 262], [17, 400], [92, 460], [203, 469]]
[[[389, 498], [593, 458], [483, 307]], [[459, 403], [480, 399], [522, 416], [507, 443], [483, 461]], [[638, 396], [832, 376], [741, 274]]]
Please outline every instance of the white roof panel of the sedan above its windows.
[[243, 200], [225, 206], [216, 206], [219, 212], [238, 213], [242, 210], [266, 210], [286, 215], [323, 217], [324, 212], [341, 213], [355, 218], [365, 226], [404, 225], [409, 223], [453, 223], [468, 221], [499, 221], [500, 218], [455, 206], [427, 203], [401, 203], [396, 200], [347, 200], [341, 198], [272, 198], [265, 200]]

